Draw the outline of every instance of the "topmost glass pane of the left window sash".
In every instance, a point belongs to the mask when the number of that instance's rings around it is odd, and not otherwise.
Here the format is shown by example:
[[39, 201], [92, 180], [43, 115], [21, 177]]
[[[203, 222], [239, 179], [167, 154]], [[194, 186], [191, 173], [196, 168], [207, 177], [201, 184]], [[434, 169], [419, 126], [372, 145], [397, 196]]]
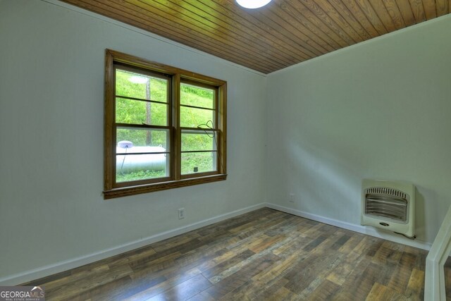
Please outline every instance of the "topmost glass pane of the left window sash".
[[116, 69], [116, 95], [168, 102], [168, 80]]

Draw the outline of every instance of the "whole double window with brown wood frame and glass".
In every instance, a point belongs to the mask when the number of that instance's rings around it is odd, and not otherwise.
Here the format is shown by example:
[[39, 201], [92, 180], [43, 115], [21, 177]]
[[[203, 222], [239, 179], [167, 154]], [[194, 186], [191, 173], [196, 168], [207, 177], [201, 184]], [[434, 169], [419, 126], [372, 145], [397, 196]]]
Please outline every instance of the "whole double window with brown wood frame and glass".
[[106, 50], [104, 197], [226, 180], [226, 82]]

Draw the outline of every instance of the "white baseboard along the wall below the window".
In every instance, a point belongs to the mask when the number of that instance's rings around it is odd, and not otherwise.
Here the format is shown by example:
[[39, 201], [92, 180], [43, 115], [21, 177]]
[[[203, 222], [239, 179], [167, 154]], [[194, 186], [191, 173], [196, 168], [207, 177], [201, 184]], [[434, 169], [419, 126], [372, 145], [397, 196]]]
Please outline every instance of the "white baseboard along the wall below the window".
[[257, 210], [257, 209], [260, 209], [263, 207], [265, 207], [264, 203], [257, 204], [257, 205], [246, 207], [243, 209], [231, 211], [226, 214], [214, 216], [210, 219], [204, 219], [203, 221], [198, 221], [197, 223], [191, 223], [190, 225], [187, 225], [187, 226], [175, 228], [175, 229], [163, 232], [163, 233], [152, 235], [152, 236], [149, 236], [148, 238], [143, 238], [142, 240], [135, 240], [132, 242], [125, 243], [123, 245], [118, 245], [116, 247], [112, 247], [107, 250], [101, 250], [99, 252], [87, 254], [82, 257], [68, 259], [63, 262], [57, 262], [56, 264], [42, 266], [37, 269], [32, 269], [30, 271], [24, 271], [22, 273], [15, 274], [12, 276], [6, 276], [4, 278], [0, 278], [0, 285], [18, 285], [20, 283], [25, 283], [27, 281], [32, 281], [34, 279], [38, 279], [38, 278], [42, 278], [42, 277], [49, 276], [52, 274], [60, 273], [62, 271], [67, 271], [69, 269], [73, 269], [78, 266], [90, 264], [92, 262], [97, 262], [98, 260], [105, 259], [105, 258], [114, 256], [114, 255], [117, 255], [117, 254], [121, 254], [123, 252], [135, 250], [139, 247], [144, 247], [146, 245], [150, 245], [150, 244], [152, 244], [154, 242], [158, 242], [160, 240], [172, 238], [173, 236], [180, 235], [180, 234], [195, 230], [197, 228], [202, 228], [204, 226], [211, 225], [212, 223], [217, 223], [218, 221], [230, 219], [234, 216], [238, 216], [240, 214], [245, 214], [247, 212], [254, 211], [254, 210]]

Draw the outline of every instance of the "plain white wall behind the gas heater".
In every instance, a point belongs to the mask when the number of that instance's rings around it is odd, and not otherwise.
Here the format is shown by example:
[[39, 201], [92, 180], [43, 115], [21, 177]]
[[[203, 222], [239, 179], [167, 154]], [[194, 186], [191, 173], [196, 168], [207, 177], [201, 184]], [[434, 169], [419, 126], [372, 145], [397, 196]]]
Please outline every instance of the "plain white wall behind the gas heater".
[[450, 54], [448, 15], [271, 73], [267, 202], [359, 228], [362, 178], [406, 180], [431, 243], [451, 204]]

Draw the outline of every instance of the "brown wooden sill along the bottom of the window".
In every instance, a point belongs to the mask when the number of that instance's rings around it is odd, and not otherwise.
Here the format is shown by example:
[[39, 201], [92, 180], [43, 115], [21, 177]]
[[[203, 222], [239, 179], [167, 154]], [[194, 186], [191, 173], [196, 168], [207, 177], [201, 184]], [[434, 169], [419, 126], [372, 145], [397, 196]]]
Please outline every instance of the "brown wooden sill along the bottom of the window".
[[226, 178], [227, 174], [220, 174], [214, 176], [204, 176], [200, 178], [188, 178], [185, 180], [173, 180], [162, 183], [131, 186], [127, 188], [114, 188], [111, 190], [104, 191], [104, 199], [113, 199], [115, 197], [125, 197], [127, 195], [139, 195], [141, 193], [154, 192], [159, 190], [167, 190], [191, 185], [212, 183], [220, 180], [226, 180]]

